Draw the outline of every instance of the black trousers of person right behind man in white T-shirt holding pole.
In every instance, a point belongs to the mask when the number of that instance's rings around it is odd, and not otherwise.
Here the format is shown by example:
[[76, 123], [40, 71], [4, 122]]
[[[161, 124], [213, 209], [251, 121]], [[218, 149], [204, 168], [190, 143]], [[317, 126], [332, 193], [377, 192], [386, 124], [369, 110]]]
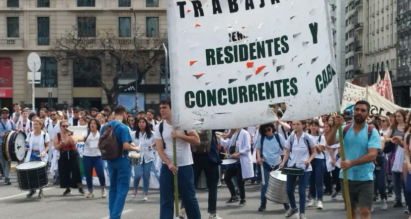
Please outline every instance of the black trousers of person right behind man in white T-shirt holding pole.
[[[217, 185], [220, 173], [218, 172], [218, 164], [207, 160], [207, 157], [197, 156], [194, 154], [193, 157], [193, 171], [194, 171], [194, 185], [197, 184], [198, 179], [200, 179], [201, 171], [204, 170], [204, 175], [207, 180], [208, 188], [208, 213], [217, 213]], [[185, 208], [184, 202], [181, 201], [181, 208]]]

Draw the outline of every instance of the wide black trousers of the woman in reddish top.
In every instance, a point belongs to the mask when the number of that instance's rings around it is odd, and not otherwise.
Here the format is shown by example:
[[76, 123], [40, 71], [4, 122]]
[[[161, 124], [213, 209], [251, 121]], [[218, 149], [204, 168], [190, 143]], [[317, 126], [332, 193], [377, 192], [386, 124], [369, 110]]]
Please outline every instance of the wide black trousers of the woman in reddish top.
[[58, 164], [60, 188], [78, 188], [77, 184], [82, 183], [82, 174], [80, 173], [80, 156], [77, 150], [60, 153]]

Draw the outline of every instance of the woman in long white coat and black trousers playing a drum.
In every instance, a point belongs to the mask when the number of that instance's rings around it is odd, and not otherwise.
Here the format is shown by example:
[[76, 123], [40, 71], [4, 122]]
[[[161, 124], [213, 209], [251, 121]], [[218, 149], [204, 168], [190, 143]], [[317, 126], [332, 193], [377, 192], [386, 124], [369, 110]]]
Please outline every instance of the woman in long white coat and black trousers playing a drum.
[[240, 162], [237, 163], [237, 168], [228, 169], [224, 175], [224, 182], [226, 183], [231, 194], [231, 198], [228, 202], [226, 202], [226, 204], [231, 204], [239, 201], [234, 183], [231, 181], [233, 177], [236, 176], [241, 199], [239, 206], [246, 206], [247, 203], [246, 190], [244, 188], [244, 179], [248, 179], [254, 176], [251, 158], [251, 137], [248, 131], [245, 128], [238, 129], [236, 140], [234, 142], [231, 142], [230, 145], [230, 156], [232, 158], [240, 160]]

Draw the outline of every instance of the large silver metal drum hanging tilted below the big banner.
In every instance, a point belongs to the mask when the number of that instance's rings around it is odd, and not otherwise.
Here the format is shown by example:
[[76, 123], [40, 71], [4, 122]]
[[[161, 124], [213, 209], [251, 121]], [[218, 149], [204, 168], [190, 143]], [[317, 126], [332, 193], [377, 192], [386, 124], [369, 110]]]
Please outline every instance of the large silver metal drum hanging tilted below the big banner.
[[285, 185], [287, 182], [287, 176], [281, 174], [281, 171], [271, 171], [270, 178], [265, 190], [265, 198], [271, 202], [280, 204], [289, 203]]

